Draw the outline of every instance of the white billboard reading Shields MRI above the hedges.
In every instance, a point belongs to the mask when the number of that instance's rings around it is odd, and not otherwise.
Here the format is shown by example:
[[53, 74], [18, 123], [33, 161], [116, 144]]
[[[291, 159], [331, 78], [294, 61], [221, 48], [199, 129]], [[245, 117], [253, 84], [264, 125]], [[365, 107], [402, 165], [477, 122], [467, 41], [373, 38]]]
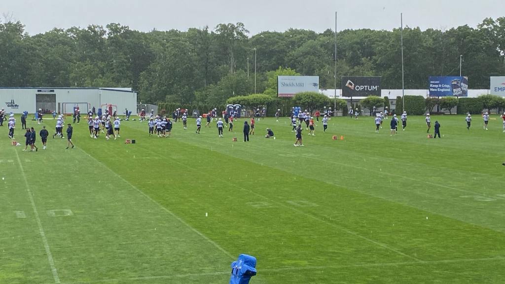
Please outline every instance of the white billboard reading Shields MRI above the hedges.
[[277, 76], [279, 97], [294, 97], [303, 91], [319, 91], [319, 76]]

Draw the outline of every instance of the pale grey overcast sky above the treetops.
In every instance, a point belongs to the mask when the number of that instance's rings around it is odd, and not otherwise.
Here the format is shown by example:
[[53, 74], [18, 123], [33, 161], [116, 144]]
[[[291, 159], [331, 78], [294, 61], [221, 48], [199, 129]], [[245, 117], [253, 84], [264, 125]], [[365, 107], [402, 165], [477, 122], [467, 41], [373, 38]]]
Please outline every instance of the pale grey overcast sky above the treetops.
[[[242, 22], [250, 35], [288, 28], [322, 32], [386, 29], [403, 24], [421, 29], [477, 26], [486, 17], [504, 16], [503, 1], [495, 0], [0, 0], [0, 13], [11, 14], [30, 34], [54, 27], [86, 27], [121, 23], [140, 31], [187, 30], [190, 27]], [[2, 17], [4, 18], [4, 17]], [[2, 22], [4, 19], [2, 19]]]

